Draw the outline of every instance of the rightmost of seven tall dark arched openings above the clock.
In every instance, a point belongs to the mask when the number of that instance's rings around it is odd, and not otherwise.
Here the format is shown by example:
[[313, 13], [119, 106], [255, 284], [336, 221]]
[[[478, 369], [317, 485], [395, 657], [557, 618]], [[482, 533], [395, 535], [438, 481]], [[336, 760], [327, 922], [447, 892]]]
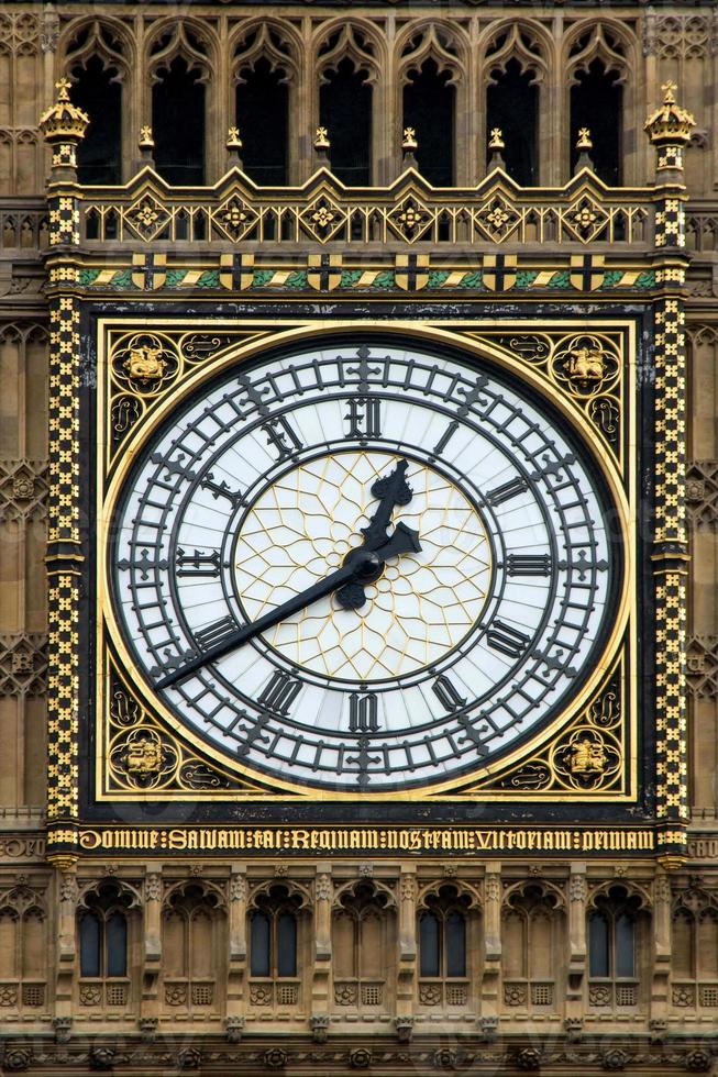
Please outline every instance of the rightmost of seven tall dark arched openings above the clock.
[[618, 73], [607, 71], [601, 60], [595, 59], [587, 71], [576, 73], [576, 85], [571, 87], [572, 169], [581, 153], [576, 149], [578, 132], [588, 127], [593, 142], [589, 157], [596, 175], [606, 184], [621, 182], [622, 103], [623, 88]]

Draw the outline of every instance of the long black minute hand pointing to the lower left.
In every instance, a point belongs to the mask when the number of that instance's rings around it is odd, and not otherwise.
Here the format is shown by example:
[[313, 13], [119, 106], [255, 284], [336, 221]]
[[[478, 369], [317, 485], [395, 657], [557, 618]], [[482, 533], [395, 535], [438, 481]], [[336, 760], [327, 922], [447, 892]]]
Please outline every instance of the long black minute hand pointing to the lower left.
[[417, 532], [401, 523], [397, 524], [396, 531], [389, 541], [383, 546], [379, 546], [378, 549], [371, 551], [360, 546], [357, 549], [350, 551], [344, 564], [336, 571], [330, 573], [329, 576], [312, 584], [311, 587], [300, 591], [299, 595], [295, 595], [294, 598], [290, 598], [287, 602], [283, 602], [281, 606], [277, 606], [276, 609], [265, 613], [264, 617], [257, 618], [251, 624], [243, 624], [236, 632], [232, 632], [225, 636], [221, 643], [210, 647], [195, 658], [190, 658], [179, 669], [167, 674], [166, 677], [157, 681], [155, 687], [170, 688], [177, 681], [184, 680], [185, 677], [189, 677], [190, 674], [201, 669], [208, 662], [221, 658], [222, 655], [234, 651], [235, 647], [240, 647], [243, 643], [247, 643], [255, 635], [259, 635], [259, 633], [266, 632], [267, 629], [274, 628], [279, 621], [284, 621], [294, 613], [298, 613], [299, 610], [303, 610], [305, 607], [310, 606], [318, 599], [331, 595], [332, 591], [335, 591], [344, 584], [353, 581], [371, 582], [377, 579], [382, 574], [384, 563], [389, 557], [398, 557], [400, 554], [408, 554], [418, 549], [421, 549], [421, 546], [419, 545]]

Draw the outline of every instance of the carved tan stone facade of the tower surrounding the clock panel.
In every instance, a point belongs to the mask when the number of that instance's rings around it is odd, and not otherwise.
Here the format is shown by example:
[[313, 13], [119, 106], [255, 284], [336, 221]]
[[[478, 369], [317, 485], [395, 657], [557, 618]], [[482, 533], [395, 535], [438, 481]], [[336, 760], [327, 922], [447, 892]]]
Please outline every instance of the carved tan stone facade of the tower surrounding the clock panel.
[[[677, 3], [619, 11], [610, 2], [537, 7], [491, 0], [441, 5], [421, 0], [327, 5], [296, 0], [281, 7], [191, 0], [176, 5], [151, 0], [0, 4], [3, 1072], [183, 1069], [254, 1075], [301, 1069], [335, 1075], [366, 1069], [409, 1075], [471, 1069], [477, 1074], [622, 1072], [647, 1077], [716, 1073], [717, 55], [718, 11], [710, 3], [689, 11]], [[344, 59], [365, 70], [373, 88], [371, 178], [375, 185], [394, 181], [406, 164], [401, 88], [410, 71], [427, 60], [454, 87], [460, 187], [475, 186], [486, 175], [490, 137], [486, 90], [496, 73], [512, 62], [531, 73], [538, 88], [542, 188], [561, 187], [571, 175], [568, 102], [579, 73], [596, 60], [617, 73], [623, 88], [623, 181], [636, 186], [654, 178], [653, 148], [642, 134], [645, 115], [658, 106], [661, 85], [667, 79], [677, 82], [681, 103], [695, 115], [696, 127], [685, 154], [692, 256], [686, 285], [685, 446], [692, 557], [687, 568], [692, 817], [688, 861], [669, 865], [675, 871], [667, 874], [649, 853], [639, 851], [620, 856], [601, 852], [587, 862], [568, 852], [538, 855], [531, 848], [521, 851], [519, 858], [504, 859], [480, 852], [450, 859], [440, 851], [374, 857], [373, 851], [357, 850], [341, 856], [302, 852], [280, 862], [269, 852], [251, 857], [216, 851], [200, 858], [191, 850], [153, 857], [142, 850], [122, 855], [95, 850], [77, 863], [46, 863], [47, 771], [57, 767], [46, 748], [49, 354], [51, 334], [59, 330], [57, 324], [51, 329], [43, 293], [51, 154], [43, 145], [38, 120], [55, 100], [56, 80], [71, 75], [73, 67], [89, 57], [99, 57], [112, 68], [121, 87], [124, 181], [148, 160], [151, 148], [139, 148], [140, 129], [150, 121], [157, 71], [176, 57], [194, 65], [205, 87], [209, 185], [236, 163], [236, 149], [227, 145], [228, 130], [236, 119], [234, 91], [243, 70], [259, 59], [280, 69], [288, 87], [287, 179], [292, 185], [308, 180], [321, 160], [314, 144], [320, 86]], [[91, 119], [102, 122], [101, 116]], [[421, 143], [421, 130], [416, 134]], [[292, 204], [292, 213], [301, 212], [298, 204]], [[496, 243], [489, 257], [505, 254], [509, 259], [484, 269], [490, 281], [487, 287], [499, 291], [501, 274], [512, 273], [516, 280], [517, 267], [510, 259], [517, 252], [540, 256], [538, 218], [528, 210], [520, 242], [515, 236], [500, 246], [511, 226], [504, 219], [507, 204], [487, 207], [488, 223], [479, 222], [480, 242]], [[420, 210], [404, 207], [409, 224], [413, 221], [418, 226]], [[151, 202], [140, 210], [147, 234], [159, 227], [155, 211]], [[334, 226], [335, 208], [318, 203], [312, 211], [312, 226]], [[239, 204], [223, 207], [222, 236], [201, 240], [205, 249], [217, 256], [217, 279], [224, 275], [229, 288], [244, 287], [243, 275], [254, 273], [256, 249], [273, 251], [266, 236], [258, 246], [254, 241], [247, 244], [242, 212]], [[584, 214], [583, 226], [598, 227], [590, 220], [594, 208], [586, 204], [575, 212]], [[108, 229], [108, 219], [98, 221], [99, 234]], [[419, 245], [407, 246], [410, 254], [398, 255], [406, 260], [397, 260], [395, 267], [397, 288], [423, 287], [430, 271], [437, 279], [446, 244], [439, 240], [443, 234], [439, 216], [434, 224], [434, 232], [420, 236]], [[103, 233], [108, 247], [113, 227], [117, 219]], [[404, 221], [401, 227], [404, 242], [409, 225]], [[143, 289], [163, 287], [168, 274], [170, 284], [178, 280], [181, 270], [167, 270], [166, 265], [177, 236], [159, 238], [162, 249], [153, 248], [154, 253], [145, 238], [137, 227], [128, 265], [117, 270], [118, 289], [131, 287], [135, 278]], [[305, 285], [313, 287], [313, 273], [323, 288], [328, 275], [341, 273], [342, 255], [325, 255], [318, 231], [314, 238], [309, 256], [316, 260], [308, 263]], [[465, 238], [462, 233], [457, 244]], [[276, 242], [284, 245], [285, 254], [295, 256], [291, 237], [279, 231]], [[365, 242], [375, 242], [375, 236], [367, 233]], [[596, 256], [607, 255], [610, 246], [606, 234], [599, 236]], [[301, 246], [302, 257], [305, 247], [307, 243]], [[429, 265], [432, 257], [439, 269]], [[321, 260], [331, 258], [339, 262]], [[564, 276], [578, 274], [579, 268], [566, 269]], [[272, 274], [274, 287], [284, 287], [277, 284], [284, 269], [261, 271], [268, 275], [267, 287], [273, 286]], [[287, 277], [289, 270], [283, 279]], [[451, 279], [446, 288], [454, 299]], [[194, 292], [192, 298], [199, 295]], [[278, 295], [286, 298], [289, 292]], [[146, 290], [142, 297], [152, 299]], [[318, 303], [330, 298], [313, 295]], [[134, 358], [128, 355], [130, 365], [122, 376], [146, 388], [151, 377], [162, 381], [166, 370], [163, 357], [147, 352], [146, 342], [143, 346], [141, 355], [137, 348]], [[572, 377], [583, 375], [586, 384], [585, 378], [595, 374], [590, 360], [589, 352], [575, 355]], [[143, 745], [135, 763], [140, 769], [152, 767], [154, 758], [152, 746]], [[207, 782], [216, 778], [214, 771], [202, 776]], [[480, 800], [476, 803], [479, 811]], [[188, 818], [192, 810], [187, 804]], [[448, 918], [461, 918], [466, 943], [463, 975], [445, 964], [437, 975], [429, 975], [428, 966], [422, 968], [421, 924], [428, 914], [444, 932]], [[259, 915], [266, 918], [275, 940], [279, 918], [291, 918], [295, 926], [287, 930], [296, 931], [294, 971], [283, 971], [276, 962], [266, 971], [253, 966], [253, 922]], [[286, 926], [288, 921], [283, 922]], [[619, 975], [616, 954], [621, 940], [629, 937], [621, 934], [627, 924], [636, 961], [632, 969]], [[112, 931], [126, 932], [124, 966], [109, 962]], [[614, 964], [601, 968], [592, 966], [590, 953], [597, 933], [604, 931]], [[93, 966], [89, 955], [96, 939], [100, 940], [99, 964]]]

